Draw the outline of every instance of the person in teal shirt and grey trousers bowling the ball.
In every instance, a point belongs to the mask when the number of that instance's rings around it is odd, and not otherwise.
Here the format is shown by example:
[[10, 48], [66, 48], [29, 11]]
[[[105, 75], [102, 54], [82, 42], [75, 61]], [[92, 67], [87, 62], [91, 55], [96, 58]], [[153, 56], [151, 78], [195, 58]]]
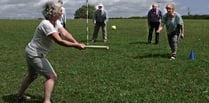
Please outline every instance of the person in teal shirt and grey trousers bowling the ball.
[[167, 13], [162, 17], [158, 33], [166, 26], [169, 46], [171, 48], [170, 60], [176, 59], [178, 40], [184, 38], [184, 22], [181, 15], [175, 12], [174, 4], [170, 3], [166, 5]]

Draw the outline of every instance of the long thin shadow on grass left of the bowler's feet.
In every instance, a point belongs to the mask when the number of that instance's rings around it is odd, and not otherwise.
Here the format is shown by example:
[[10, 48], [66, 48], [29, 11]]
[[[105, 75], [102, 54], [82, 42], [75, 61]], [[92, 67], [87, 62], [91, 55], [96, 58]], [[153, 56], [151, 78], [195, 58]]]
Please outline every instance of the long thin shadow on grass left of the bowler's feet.
[[169, 54], [147, 54], [147, 55], [137, 55], [133, 57], [134, 59], [144, 59], [144, 58], [168, 58]]

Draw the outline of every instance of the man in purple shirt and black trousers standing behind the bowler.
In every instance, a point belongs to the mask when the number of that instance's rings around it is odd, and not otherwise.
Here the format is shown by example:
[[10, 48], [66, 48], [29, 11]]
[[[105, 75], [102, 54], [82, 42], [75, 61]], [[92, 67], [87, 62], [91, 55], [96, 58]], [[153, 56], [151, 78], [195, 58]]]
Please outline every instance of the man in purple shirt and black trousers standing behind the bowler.
[[153, 3], [152, 9], [150, 9], [148, 12], [148, 27], [149, 27], [148, 44], [151, 44], [152, 33], [154, 29], [155, 29], [155, 44], [159, 43], [159, 33], [157, 33], [156, 31], [159, 28], [161, 18], [162, 18], [162, 12], [158, 8], [158, 4]]

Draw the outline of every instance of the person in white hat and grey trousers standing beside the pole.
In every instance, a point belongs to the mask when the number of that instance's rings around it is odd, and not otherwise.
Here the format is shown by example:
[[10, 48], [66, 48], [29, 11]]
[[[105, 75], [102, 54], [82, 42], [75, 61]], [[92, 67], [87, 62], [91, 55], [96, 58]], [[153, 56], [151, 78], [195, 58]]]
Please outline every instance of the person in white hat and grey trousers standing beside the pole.
[[106, 29], [107, 21], [108, 21], [107, 11], [104, 10], [103, 4], [99, 3], [97, 5], [97, 10], [94, 12], [93, 15], [94, 32], [93, 32], [92, 42], [96, 42], [100, 27], [102, 28], [103, 41], [107, 42], [107, 29]]

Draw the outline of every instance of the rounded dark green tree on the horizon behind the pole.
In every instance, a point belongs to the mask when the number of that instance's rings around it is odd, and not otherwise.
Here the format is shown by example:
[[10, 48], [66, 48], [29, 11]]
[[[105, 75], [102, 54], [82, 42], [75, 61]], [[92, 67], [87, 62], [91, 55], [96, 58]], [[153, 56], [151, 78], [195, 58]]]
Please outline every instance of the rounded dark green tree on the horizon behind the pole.
[[[87, 6], [83, 5], [82, 7], [80, 7], [79, 9], [75, 11], [74, 18], [75, 19], [86, 18], [87, 17], [86, 11], [87, 11]], [[93, 18], [94, 11], [95, 11], [95, 7], [93, 5], [88, 5], [88, 18], [89, 19]]]

